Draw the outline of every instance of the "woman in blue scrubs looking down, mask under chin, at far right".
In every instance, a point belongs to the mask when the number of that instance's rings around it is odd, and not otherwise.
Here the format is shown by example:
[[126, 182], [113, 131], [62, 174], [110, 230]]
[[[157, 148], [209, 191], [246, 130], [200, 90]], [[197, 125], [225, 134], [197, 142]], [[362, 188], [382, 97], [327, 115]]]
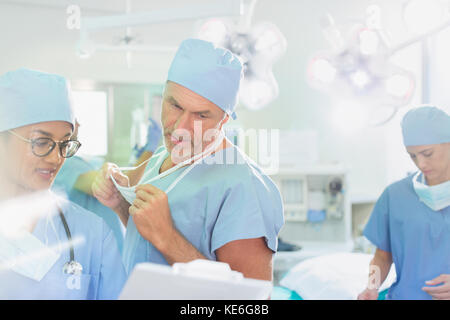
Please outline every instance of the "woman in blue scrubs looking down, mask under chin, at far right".
[[377, 299], [395, 264], [387, 299], [450, 299], [450, 116], [433, 106], [402, 123], [406, 151], [419, 171], [387, 187], [364, 229], [376, 245], [369, 284], [358, 299]]

